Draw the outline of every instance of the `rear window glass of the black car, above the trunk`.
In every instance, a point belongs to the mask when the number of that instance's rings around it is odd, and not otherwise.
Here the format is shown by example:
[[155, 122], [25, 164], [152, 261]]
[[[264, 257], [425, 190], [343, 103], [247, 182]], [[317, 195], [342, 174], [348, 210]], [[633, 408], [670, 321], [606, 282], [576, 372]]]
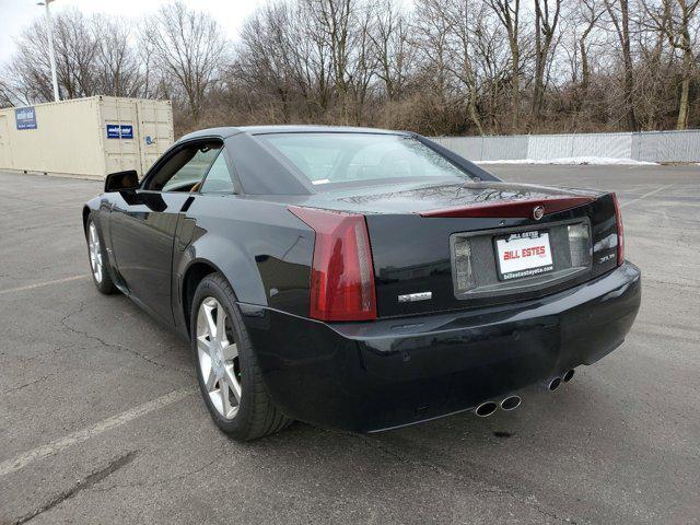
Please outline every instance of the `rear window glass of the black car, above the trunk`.
[[420, 141], [400, 135], [259, 135], [314, 185], [386, 178], [469, 178]]

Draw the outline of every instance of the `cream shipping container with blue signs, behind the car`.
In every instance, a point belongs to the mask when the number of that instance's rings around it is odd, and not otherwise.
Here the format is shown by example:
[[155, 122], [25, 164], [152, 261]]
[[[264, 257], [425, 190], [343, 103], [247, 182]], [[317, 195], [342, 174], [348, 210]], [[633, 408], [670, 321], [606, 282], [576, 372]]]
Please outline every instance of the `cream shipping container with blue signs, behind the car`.
[[143, 175], [173, 143], [170, 101], [91, 96], [0, 109], [0, 170]]

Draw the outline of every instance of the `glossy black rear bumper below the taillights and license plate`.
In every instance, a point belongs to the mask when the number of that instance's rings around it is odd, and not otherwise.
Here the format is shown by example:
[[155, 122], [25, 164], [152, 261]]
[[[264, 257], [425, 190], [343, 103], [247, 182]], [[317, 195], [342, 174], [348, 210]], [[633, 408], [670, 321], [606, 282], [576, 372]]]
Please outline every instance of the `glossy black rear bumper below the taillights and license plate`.
[[265, 383], [294, 419], [371, 432], [501, 398], [592, 364], [639, 311], [632, 264], [536, 301], [373, 323], [325, 324], [241, 304]]

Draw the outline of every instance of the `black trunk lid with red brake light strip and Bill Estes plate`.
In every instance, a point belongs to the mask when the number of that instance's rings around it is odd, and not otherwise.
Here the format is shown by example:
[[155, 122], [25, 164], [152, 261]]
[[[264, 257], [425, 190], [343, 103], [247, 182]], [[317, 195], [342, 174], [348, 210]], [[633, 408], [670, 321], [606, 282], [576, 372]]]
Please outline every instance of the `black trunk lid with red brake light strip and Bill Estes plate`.
[[616, 265], [609, 194], [476, 183], [375, 194], [362, 205], [380, 317], [539, 298]]

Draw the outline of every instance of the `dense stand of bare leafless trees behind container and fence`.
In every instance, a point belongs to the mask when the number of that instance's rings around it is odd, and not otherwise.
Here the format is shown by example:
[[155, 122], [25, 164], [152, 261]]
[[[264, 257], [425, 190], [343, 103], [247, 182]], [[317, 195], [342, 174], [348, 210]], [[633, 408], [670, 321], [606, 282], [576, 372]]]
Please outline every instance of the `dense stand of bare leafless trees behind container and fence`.
[[[67, 10], [55, 25], [59, 90], [63, 98], [172, 98], [180, 131], [234, 122], [428, 135], [686, 129], [700, 126], [699, 3], [269, 0], [235, 44], [179, 1], [140, 28]], [[0, 104], [52, 98], [46, 36], [39, 18], [18, 38]]]

